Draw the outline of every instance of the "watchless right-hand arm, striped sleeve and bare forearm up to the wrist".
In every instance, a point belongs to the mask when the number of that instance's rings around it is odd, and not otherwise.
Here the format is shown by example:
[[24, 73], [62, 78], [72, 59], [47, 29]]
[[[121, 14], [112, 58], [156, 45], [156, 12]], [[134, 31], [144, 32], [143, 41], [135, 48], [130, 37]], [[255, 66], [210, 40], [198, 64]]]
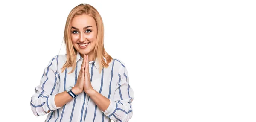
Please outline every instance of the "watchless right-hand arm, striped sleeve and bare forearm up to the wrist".
[[132, 117], [131, 102], [134, 99], [134, 93], [129, 85], [128, 72], [126, 68], [119, 73], [119, 82], [117, 84], [114, 99], [108, 99], [95, 90], [87, 92], [93, 102], [104, 112], [104, 114], [113, 121], [127, 122]]

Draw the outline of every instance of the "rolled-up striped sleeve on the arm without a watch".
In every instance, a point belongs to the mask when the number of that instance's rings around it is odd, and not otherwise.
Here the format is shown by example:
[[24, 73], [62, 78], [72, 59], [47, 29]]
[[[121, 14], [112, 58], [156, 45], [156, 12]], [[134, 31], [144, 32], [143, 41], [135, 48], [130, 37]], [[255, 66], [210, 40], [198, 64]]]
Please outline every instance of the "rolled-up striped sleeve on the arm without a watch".
[[110, 99], [110, 105], [104, 114], [113, 121], [128, 122], [132, 117], [131, 102], [134, 99], [134, 92], [129, 85], [129, 77], [126, 67], [123, 72], [119, 72], [119, 81], [116, 86], [113, 100]]

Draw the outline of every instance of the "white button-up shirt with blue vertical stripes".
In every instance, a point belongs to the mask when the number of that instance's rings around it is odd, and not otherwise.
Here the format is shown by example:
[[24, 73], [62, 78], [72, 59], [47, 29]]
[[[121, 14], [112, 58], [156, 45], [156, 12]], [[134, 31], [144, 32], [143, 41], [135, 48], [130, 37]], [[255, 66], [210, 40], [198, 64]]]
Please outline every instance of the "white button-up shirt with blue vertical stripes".
[[55, 95], [76, 84], [83, 58], [77, 52], [76, 69], [70, 74], [71, 67], [61, 73], [66, 60], [66, 55], [56, 55], [44, 69], [40, 85], [35, 88], [30, 102], [35, 116], [48, 114], [46, 122], [111, 122], [111, 119], [127, 122], [131, 118], [134, 93], [129, 85], [125, 64], [118, 59], [113, 59], [101, 73], [97, 60], [89, 62], [90, 81], [94, 90], [110, 100], [105, 112], [84, 92], [64, 106], [56, 107]]

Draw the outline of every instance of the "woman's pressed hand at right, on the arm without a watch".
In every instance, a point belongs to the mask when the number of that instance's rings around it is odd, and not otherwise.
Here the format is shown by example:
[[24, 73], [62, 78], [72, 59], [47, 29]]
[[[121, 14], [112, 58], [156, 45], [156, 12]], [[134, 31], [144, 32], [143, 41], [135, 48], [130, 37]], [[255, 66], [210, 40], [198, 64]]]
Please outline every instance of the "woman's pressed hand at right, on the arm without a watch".
[[88, 59], [88, 55], [86, 55], [86, 63], [85, 63], [85, 73], [84, 73], [84, 92], [85, 93], [90, 93], [91, 91], [93, 91], [93, 87], [92, 84], [90, 82], [90, 73], [89, 73], [89, 59]]

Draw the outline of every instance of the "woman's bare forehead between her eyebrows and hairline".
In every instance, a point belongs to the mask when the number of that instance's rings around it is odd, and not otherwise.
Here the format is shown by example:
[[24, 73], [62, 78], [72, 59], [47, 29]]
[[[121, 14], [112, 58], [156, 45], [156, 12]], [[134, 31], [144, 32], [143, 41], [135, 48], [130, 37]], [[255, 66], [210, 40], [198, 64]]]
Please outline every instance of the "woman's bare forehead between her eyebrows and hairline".
[[78, 15], [73, 18], [71, 21], [71, 26], [76, 28], [84, 28], [85, 26], [93, 26], [96, 27], [96, 22], [90, 15]]

